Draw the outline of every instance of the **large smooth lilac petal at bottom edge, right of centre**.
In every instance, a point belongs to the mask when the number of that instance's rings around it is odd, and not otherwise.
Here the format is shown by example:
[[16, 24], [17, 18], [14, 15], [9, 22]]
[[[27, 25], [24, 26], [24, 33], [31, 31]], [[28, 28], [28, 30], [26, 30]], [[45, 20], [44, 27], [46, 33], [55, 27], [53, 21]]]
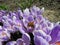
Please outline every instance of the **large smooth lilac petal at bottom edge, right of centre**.
[[34, 37], [35, 45], [49, 45], [49, 43], [41, 36]]

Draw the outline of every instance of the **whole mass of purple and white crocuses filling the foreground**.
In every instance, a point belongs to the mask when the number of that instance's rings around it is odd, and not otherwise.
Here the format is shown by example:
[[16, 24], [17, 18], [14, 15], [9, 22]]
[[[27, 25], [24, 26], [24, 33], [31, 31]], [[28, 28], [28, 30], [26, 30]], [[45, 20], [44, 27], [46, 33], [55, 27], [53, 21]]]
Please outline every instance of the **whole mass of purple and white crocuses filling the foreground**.
[[60, 45], [59, 22], [50, 22], [43, 12], [36, 6], [8, 13], [0, 10], [0, 45]]

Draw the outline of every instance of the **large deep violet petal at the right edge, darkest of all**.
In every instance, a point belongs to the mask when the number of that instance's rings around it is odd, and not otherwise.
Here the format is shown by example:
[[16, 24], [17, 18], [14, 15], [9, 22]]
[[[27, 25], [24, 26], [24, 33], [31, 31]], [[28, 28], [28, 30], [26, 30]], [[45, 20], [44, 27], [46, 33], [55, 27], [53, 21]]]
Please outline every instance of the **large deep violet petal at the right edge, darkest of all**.
[[50, 43], [56, 43], [58, 40], [60, 41], [60, 36], [59, 36], [59, 32], [60, 32], [60, 25], [56, 25], [51, 32], [51, 42]]

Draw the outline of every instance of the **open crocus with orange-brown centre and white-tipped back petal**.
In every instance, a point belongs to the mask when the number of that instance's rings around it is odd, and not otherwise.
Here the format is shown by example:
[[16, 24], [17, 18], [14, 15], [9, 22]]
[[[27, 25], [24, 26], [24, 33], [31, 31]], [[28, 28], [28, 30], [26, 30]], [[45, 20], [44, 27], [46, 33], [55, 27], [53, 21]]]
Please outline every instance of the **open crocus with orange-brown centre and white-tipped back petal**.
[[[27, 11], [27, 13], [26, 13]], [[23, 12], [23, 20], [22, 20], [22, 29], [25, 30], [25, 32], [32, 32], [34, 30], [34, 17], [30, 15], [30, 11], [28, 8], [26, 8]]]

